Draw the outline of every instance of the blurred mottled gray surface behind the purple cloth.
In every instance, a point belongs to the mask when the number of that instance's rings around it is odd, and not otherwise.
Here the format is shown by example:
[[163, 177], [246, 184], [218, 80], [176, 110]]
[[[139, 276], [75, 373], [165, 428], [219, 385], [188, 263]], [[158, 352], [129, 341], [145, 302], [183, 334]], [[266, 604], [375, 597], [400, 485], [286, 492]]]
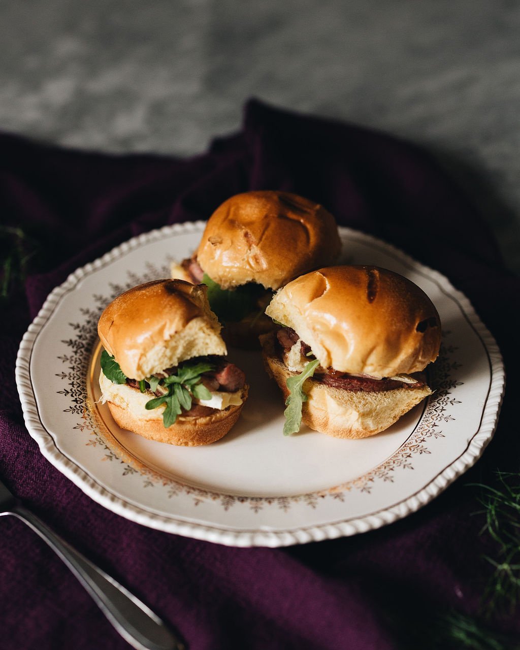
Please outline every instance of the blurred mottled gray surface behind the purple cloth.
[[520, 3], [3, 0], [0, 128], [201, 153], [250, 96], [437, 155], [520, 272]]

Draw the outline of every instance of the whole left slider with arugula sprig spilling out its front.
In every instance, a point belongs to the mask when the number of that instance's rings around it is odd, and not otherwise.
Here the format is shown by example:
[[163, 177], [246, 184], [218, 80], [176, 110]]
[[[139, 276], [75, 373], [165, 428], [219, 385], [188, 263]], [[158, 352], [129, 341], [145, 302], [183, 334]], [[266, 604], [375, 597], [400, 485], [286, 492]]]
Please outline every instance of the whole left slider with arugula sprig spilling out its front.
[[207, 287], [164, 279], [101, 314], [101, 401], [117, 424], [172, 445], [207, 445], [237, 421], [248, 386], [229, 363]]

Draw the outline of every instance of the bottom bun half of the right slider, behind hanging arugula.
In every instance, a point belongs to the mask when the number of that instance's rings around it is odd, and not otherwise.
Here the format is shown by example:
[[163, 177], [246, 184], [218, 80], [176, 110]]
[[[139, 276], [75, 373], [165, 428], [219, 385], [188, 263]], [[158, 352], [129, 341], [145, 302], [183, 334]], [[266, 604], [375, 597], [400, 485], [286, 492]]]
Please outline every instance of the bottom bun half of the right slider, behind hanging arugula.
[[[294, 376], [281, 361], [275, 348], [275, 337], [261, 337], [266, 370], [278, 383], [284, 398], [289, 395], [286, 380]], [[348, 391], [324, 385], [312, 378], [305, 380], [308, 400], [302, 408], [302, 421], [311, 429], [337, 438], [365, 438], [389, 428], [394, 422], [432, 394], [428, 386], [398, 388], [368, 393]]]

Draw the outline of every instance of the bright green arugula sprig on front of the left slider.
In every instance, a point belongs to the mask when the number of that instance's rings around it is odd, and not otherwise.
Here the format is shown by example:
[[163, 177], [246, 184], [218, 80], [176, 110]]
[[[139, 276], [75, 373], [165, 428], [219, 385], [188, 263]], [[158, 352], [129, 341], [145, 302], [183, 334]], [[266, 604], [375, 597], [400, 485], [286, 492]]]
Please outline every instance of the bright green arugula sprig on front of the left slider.
[[164, 426], [172, 426], [181, 415], [183, 409], [189, 411], [192, 405], [192, 398], [198, 400], [209, 400], [211, 392], [201, 382], [204, 372], [214, 369], [211, 363], [185, 363], [177, 368], [176, 374], [170, 374], [164, 380], [164, 385], [168, 387], [168, 395], [161, 395], [153, 400], [146, 402], [146, 409], [151, 410], [166, 404], [162, 414]]

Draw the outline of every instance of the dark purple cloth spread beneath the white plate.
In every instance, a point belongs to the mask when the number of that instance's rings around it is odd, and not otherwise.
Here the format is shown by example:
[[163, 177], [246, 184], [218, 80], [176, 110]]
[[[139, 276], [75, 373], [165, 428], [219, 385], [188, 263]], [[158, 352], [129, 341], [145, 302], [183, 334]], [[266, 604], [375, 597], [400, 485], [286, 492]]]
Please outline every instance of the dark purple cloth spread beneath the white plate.
[[[109, 156], [0, 136], [0, 214], [41, 244], [3, 313], [0, 476], [78, 549], [179, 630], [191, 650], [426, 647], [435, 612], [476, 614], [489, 575], [476, 489], [518, 469], [508, 399], [495, 438], [465, 476], [380, 530], [287, 549], [234, 549], [132, 523], [99, 506], [38, 450], [23, 424], [19, 341], [53, 287], [77, 266], [149, 229], [207, 218], [245, 190], [322, 203], [436, 268], [473, 302], [507, 365], [517, 352], [520, 282], [486, 224], [424, 151], [381, 133], [248, 103], [242, 131], [192, 159]], [[509, 393], [517, 379], [511, 369]], [[0, 520], [0, 648], [127, 648], [60, 560], [29, 528]], [[500, 629], [520, 632], [516, 620]], [[417, 631], [419, 630], [419, 631]], [[407, 645], [408, 643], [408, 645]]]

